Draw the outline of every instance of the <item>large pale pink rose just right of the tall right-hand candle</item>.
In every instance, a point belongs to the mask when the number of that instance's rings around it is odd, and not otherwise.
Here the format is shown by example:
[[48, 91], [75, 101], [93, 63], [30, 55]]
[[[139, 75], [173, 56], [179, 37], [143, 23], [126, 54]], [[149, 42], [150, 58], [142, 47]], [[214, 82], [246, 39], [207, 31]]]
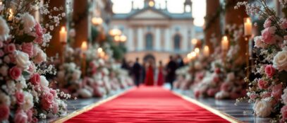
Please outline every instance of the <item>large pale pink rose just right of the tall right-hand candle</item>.
[[267, 44], [274, 44], [275, 39], [275, 27], [269, 27], [262, 30], [262, 40]]

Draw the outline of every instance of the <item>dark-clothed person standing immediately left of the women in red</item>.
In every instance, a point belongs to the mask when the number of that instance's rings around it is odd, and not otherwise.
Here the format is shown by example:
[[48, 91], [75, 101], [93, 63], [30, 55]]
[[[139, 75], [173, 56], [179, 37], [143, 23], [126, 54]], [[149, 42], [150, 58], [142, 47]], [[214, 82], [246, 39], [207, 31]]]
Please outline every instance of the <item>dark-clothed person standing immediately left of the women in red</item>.
[[137, 87], [140, 86], [140, 75], [141, 75], [141, 68], [142, 66], [140, 66], [140, 63], [138, 63], [138, 57], [135, 59], [135, 64], [133, 64], [133, 78], [134, 78], [134, 81], [135, 81], [135, 85]]

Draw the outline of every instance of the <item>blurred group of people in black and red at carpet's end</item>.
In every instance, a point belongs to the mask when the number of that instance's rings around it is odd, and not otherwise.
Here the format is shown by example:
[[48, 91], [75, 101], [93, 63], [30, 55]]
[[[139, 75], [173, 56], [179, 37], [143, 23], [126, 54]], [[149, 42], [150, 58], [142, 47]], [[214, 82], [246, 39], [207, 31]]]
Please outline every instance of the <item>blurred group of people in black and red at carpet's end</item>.
[[[142, 60], [142, 64], [140, 63]], [[185, 66], [181, 55], [169, 56], [169, 61], [163, 64], [162, 61], [156, 63], [154, 59], [139, 59], [135, 61], [126, 61], [123, 59], [121, 68], [129, 71], [130, 76], [136, 86], [141, 84], [145, 86], [163, 86], [164, 83], [170, 83], [173, 89], [173, 81], [176, 80], [176, 70]]]

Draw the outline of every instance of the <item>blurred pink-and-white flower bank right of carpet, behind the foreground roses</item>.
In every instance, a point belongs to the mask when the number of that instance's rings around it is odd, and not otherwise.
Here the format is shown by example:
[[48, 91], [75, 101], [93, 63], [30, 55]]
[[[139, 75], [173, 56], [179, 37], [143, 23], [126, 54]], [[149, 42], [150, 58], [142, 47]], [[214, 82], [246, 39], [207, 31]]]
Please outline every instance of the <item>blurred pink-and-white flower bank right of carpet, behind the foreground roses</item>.
[[244, 96], [244, 61], [237, 59], [240, 57], [238, 40], [243, 35], [243, 26], [226, 25], [226, 35], [231, 44], [228, 52], [224, 53], [219, 47], [216, 48], [210, 72], [193, 88], [197, 98], [236, 99]]

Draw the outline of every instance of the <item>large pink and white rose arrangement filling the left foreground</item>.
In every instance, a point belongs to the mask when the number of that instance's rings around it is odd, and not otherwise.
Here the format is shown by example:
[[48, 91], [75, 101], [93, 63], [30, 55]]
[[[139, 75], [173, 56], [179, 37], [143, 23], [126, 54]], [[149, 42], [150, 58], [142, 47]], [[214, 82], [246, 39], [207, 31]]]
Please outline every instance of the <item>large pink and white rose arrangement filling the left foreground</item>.
[[[37, 122], [39, 118], [63, 115], [69, 98], [60, 90], [49, 88], [45, 74], [56, 74], [53, 66], [45, 65], [49, 30], [59, 25], [64, 15], [52, 16], [46, 3], [38, 0], [2, 1], [0, 5], [0, 122]], [[29, 6], [27, 6], [29, 5]], [[32, 6], [32, 7], [31, 7]], [[39, 6], [39, 13], [53, 21], [42, 25], [30, 15]]]

